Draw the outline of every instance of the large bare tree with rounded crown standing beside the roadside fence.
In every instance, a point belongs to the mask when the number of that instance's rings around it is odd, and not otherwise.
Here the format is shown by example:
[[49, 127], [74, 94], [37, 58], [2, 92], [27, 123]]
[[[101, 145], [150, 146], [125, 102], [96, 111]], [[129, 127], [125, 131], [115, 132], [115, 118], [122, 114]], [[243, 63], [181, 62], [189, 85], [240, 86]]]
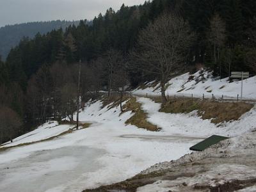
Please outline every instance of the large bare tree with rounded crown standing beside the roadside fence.
[[165, 84], [170, 74], [184, 66], [193, 37], [187, 22], [166, 13], [140, 33], [131, 56], [141, 70], [159, 78], [163, 104], [166, 102]]

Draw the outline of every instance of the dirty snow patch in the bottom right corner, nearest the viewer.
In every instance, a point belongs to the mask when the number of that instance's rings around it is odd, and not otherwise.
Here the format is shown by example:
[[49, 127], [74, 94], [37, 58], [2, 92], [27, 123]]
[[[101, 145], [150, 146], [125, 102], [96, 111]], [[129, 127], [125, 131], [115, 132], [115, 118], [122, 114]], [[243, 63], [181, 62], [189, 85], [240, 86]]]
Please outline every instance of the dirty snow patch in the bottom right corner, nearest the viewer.
[[[194, 177], [179, 177], [175, 180], [159, 180], [137, 189], [137, 192], [184, 191], [196, 185], [215, 187], [232, 180], [248, 180], [256, 178], [256, 170], [241, 164], [221, 164], [209, 171]], [[182, 184], [186, 184], [183, 186]], [[183, 189], [183, 190], [182, 190]], [[255, 188], [254, 188], [255, 189]], [[253, 188], [252, 188], [253, 190]], [[250, 189], [248, 189], [250, 191]]]

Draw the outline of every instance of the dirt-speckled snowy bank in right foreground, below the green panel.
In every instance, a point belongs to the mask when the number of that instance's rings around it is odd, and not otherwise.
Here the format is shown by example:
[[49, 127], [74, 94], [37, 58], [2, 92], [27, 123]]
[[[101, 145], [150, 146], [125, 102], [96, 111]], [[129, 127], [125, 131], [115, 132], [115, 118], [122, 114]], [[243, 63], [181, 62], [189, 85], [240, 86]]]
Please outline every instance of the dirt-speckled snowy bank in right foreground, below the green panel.
[[[153, 184], [148, 184], [137, 191], [189, 191], [194, 186], [219, 186], [234, 180], [250, 180], [256, 179], [256, 170], [254, 157], [256, 156], [256, 132], [250, 134], [244, 134], [230, 138], [229, 140], [221, 141], [220, 143], [213, 145], [211, 148], [207, 148], [203, 152], [193, 152], [184, 157], [181, 157], [177, 161], [170, 161], [164, 163], [158, 163], [141, 172], [141, 174], [148, 174], [151, 172], [162, 172], [164, 170], [172, 170], [179, 166], [198, 163], [202, 159], [212, 159], [212, 163], [219, 162], [218, 166], [211, 167], [211, 160], [208, 160], [209, 170], [207, 170], [207, 163], [204, 164], [205, 172], [195, 172], [195, 176], [192, 177], [179, 177], [175, 180], [158, 180]], [[250, 157], [250, 158], [249, 158]], [[221, 158], [233, 159], [236, 164], [221, 164]], [[240, 160], [238, 160], [240, 158]], [[244, 161], [241, 161], [244, 159]], [[226, 161], [226, 162], [227, 162]], [[253, 163], [254, 162], [254, 163]], [[250, 164], [251, 166], [244, 165]], [[200, 165], [200, 164], [199, 164]], [[193, 170], [193, 168], [192, 168]], [[243, 189], [241, 191], [255, 191], [255, 186]]]

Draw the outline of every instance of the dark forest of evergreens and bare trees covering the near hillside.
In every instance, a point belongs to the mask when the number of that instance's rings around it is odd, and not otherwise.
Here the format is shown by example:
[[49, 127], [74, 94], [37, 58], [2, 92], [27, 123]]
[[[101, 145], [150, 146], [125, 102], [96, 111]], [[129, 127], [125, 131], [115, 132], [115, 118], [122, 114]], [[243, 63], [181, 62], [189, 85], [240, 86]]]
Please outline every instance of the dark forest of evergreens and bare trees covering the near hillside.
[[[115, 90], [122, 99], [127, 84], [157, 79], [164, 103], [164, 84], [184, 65], [221, 77], [231, 70], [255, 74], [255, 8], [253, 0], [154, 0], [23, 38], [0, 63], [0, 111], [17, 118], [8, 126], [18, 135], [48, 119], [72, 120], [77, 94], [84, 102]], [[12, 138], [2, 130], [2, 138]]]

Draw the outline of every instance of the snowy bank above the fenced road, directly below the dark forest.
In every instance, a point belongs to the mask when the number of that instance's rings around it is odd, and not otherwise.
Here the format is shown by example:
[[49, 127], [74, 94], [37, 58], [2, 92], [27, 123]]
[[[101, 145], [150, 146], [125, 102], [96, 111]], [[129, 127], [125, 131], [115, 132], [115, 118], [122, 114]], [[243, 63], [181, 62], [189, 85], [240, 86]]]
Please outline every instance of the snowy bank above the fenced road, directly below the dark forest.
[[[214, 97], [225, 99], [236, 98], [237, 94], [241, 96], [241, 81], [229, 83], [228, 78], [214, 79], [211, 72], [200, 70], [195, 74], [182, 74], [174, 77], [166, 84], [166, 95], [184, 95], [190, 97]], [[159, 83], [155, 81], [145, 83], [145, 89], [137, 88], [133, 91], [135, 95], [160, 95]], [[243, 81], [243, 99], [256, 99], [256, 76]]]

